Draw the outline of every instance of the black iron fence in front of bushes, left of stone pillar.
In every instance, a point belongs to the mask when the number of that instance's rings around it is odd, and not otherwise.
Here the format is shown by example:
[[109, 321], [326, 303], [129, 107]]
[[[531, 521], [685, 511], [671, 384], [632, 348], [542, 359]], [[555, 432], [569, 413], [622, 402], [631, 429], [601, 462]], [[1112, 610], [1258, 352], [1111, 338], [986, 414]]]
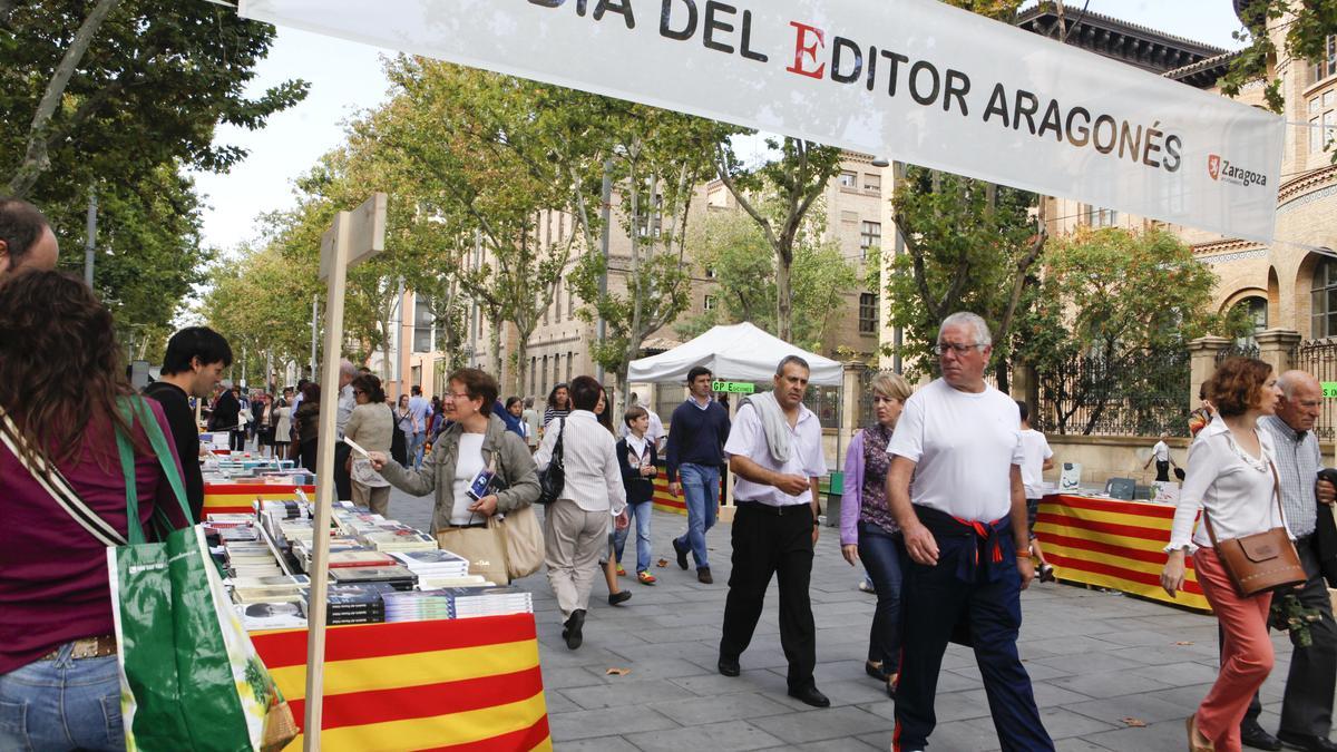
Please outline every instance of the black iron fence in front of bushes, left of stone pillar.
[[1187, 436], [1190, 367], [1186, 351], [1076, 356], [1036, 373], [1032, 424], [1052, 434]]

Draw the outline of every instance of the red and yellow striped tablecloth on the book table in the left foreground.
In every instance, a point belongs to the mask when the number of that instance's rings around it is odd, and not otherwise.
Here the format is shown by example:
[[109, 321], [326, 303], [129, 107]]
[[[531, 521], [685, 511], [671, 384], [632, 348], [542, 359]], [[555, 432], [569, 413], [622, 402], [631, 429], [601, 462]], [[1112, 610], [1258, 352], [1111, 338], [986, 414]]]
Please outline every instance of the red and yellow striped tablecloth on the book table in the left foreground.
[[[251, 641], [301, 724], [306, 630]], [[532, 614], [332, 626], [325, 656], [321, 749], [552, 749]]]

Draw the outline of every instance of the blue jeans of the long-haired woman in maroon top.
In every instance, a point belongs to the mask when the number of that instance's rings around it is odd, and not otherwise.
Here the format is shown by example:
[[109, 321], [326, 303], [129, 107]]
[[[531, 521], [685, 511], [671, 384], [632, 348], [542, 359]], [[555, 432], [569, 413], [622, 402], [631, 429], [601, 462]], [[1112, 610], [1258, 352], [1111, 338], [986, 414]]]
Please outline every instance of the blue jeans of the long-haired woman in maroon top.
[[36, 661], [0, 676], [0, 749], [124, 749], [116, 656]]

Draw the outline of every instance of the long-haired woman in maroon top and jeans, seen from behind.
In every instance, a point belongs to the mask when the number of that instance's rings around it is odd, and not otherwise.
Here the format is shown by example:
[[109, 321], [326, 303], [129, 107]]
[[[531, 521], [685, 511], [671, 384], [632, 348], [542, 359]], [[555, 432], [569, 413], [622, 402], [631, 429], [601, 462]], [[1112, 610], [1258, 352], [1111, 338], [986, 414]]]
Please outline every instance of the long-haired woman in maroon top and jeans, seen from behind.
[[[132, 392], [119, 353], [111, 313], [82, 281], [31, 272], [0, 284], [0, 408], [21, 439], [12, 443], [53, 464], [126, 535], [116, 403]], [[162, 408], [146, 404], [174, 447]], [[130, 436], [135, 525], [152, 539], [158, 504], [187, 522], [143, 426]], [[0, 442], [0, 749], [124, 749], [106, 547], [27, 466]]]

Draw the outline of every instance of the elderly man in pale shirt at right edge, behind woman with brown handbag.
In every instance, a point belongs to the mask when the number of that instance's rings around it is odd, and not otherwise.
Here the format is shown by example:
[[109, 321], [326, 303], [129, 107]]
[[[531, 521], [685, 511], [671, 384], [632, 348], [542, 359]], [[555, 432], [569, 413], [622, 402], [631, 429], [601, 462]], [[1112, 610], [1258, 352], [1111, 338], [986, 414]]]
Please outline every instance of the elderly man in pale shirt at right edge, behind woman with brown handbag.
[[1281, 749], [1281, 743], [1309, 752], [1337, 749], [1328, 739], [1332, 731], [1333, 689], [1337, 685], [1337, 625], [1333, 622], [1332, 599], [1318, 566], [1314, 526], [1318, 504], [1333, 503], [1333, 487], [1316, 482], [1322, 467], [1314, 423], [1324, 407], [1324, 391], [1318, 380], [1304, 371], [1288, 371], [1277, 380], [1282, 399], [1275, 415], [1267, 415], [1258, 424], [1271, 435], [1277, 448], [1277, 474], [1281, 479], [1281, 506], [1286, 512], [1286, 527], [1296, 539], [1300, 563], [1309, 581], [1296, 593], [1306, 607], [1318, 609], [1322, 620], [1310, 625], [1314, 644], [1296, 648], [1290, 656], [1286, 676], [1286, 694], [1281, 704], [1280, 740], [1258, 724], [1262, 704], [1254, 696], [1243, 723], [1241, 740], [1258, 749]]

